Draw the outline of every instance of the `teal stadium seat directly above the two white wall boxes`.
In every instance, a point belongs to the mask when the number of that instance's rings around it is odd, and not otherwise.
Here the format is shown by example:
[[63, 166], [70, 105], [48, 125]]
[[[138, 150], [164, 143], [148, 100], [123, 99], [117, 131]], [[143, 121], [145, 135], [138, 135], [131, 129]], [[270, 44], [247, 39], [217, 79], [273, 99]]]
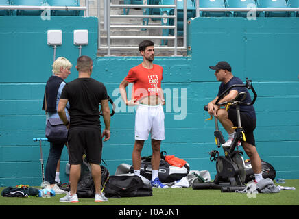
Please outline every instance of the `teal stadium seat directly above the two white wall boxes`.
[[[80, 6], [79, 0], [45, 0], [50, 6]], [[83, 10], [51, 10], [51, 16], [84, 16]]]

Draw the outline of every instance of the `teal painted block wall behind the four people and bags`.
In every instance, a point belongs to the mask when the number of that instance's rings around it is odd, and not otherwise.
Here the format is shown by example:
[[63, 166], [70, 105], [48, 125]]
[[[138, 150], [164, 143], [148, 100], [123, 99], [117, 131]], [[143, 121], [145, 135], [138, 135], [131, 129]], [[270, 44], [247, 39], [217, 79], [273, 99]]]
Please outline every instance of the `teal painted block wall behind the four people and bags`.
[[[132, 164], [134, 109], [123, 106], [117, 89], [128, 70], [141, 62], [141, 57], [96, 57], [97, 18], [52, 16], [51, 20], [43, 21], [38, 16], [1, 16], [0, 186], [40, 185], [39, 144], [32, 138], [43, 137], [45, 132], [41, 105], [53, 62], [53, 49], [47, 45], [48, 29], [62, 29], [62, 46], [58, 47], [56, 57], [65, 56], [74, 65], [79, 50], [73, 45], [73, 30], [88, 29], [89, 44], [83, 47], [82, 55], [93, 58], [92, 77], [105, 83], [117, 104], [117, 113], [111, 121], [111, 138], [104, 142], [103, 159], [110, 175], [115, 174], [119, 164]], [[208, 170], [214, 177], [215, 163], [209, 161], [207, 154], [217, 149], [214, 123], [204, 121], [209, 116], [203, 106], [215, 97], [219, 86], [208, 66], [226, 60], [232, 65], [234, 75], [243, 81], [246, 77], [252, 79], [259, 96], [255, 103], [258, 119], [255, 136], [261, 158], [274, 166], [277, 177], [298, 179], [298, 39], [298, 18], [191, 20], [189, 56], [156, 57], [154, 61], [164, 68], [167, 101], [166, 138], [161, 150], [187, 160], [191, 170]], [[73, 67], [66, 81], [76, 77]], [[182, 116], [180, 107], [184, 103], [186, 117], [176, 120], [176, 116]], [[45, 165], [48, 154], [49, 143], [43, 142]], [[147, 140], [142, 155], [150, 154], [150, 140]], [[68, 181], [64, 173], [67, 160], [64, 149], [62, 182]]]

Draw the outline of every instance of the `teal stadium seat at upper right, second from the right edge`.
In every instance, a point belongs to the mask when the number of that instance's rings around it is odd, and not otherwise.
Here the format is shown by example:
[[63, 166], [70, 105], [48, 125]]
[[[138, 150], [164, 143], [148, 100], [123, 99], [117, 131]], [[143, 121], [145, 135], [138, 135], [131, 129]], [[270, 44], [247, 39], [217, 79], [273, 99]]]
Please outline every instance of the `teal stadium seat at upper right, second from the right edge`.
[[[288, 8], [287, 0], [259, 0], [259, 8]], [[291, 12], [260, 12], [259, 16], [265, 17], [288, 17]]]

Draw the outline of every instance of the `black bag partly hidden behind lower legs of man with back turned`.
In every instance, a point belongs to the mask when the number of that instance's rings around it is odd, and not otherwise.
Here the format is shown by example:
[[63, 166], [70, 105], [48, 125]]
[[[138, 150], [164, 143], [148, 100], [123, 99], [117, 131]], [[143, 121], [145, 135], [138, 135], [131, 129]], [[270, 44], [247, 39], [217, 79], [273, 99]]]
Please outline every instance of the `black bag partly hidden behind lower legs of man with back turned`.
[[[105, 166], [101, 165], [101, 188], [104, 187], [109, 177], [109, 171]], [[91, 172], [86, 172], [77, 184], [78, 198], [94, 198], [95, 184]]]

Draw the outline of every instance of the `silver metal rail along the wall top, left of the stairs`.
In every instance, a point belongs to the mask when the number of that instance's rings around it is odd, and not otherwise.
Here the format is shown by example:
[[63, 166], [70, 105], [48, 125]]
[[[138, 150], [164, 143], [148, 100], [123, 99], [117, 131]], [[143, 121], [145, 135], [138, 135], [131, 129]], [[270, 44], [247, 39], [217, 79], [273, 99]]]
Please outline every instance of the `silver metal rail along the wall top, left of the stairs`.
[[85, 6], [0, 5], [0, 10], [67, 10], [67, 11], [84, 10], [84, 16], [89, 16], [89, 3], [88, 0], [85, 0]]

